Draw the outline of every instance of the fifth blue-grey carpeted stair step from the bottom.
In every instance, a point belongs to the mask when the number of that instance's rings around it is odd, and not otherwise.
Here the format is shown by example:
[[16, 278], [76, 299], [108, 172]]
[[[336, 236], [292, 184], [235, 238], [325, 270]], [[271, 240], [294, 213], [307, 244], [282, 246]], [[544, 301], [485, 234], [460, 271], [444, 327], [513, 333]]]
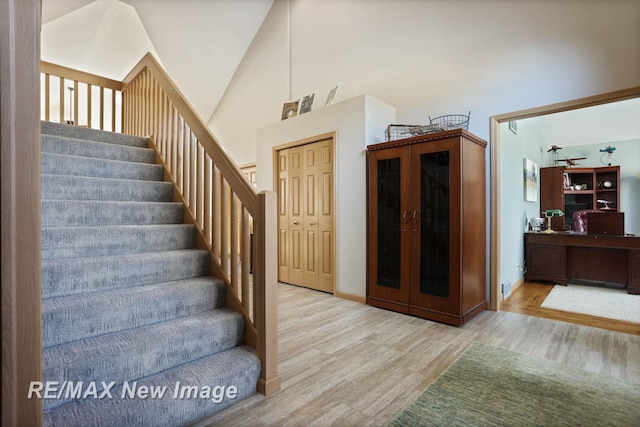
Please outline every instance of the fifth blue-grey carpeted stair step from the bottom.
[[43, 227], [42, 259], [188, 249], [195, 237], [191, 224]]

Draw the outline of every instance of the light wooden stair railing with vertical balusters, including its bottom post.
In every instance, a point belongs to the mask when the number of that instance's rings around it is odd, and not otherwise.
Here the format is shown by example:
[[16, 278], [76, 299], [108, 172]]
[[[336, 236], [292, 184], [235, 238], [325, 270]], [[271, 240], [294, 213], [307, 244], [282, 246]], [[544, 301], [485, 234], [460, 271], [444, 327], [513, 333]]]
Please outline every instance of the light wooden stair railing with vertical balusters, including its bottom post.
[[[74, 82], [75, 96], [81, 85], [99, 86], [103, 79], [45, 62], [41, 72], [46, 93], [49, 75], [60, 76], [61, 82]], [[114, 103], [110, 116], [114, 118], [112, 129], [107, 130], [121, 130], [150, 139], [157, 161], [165, 167], [165, 178], [174, 184], [174, 200], [184, 203], [185, 220], [193, 223], [198, 231], [198, 247], [210, 253], [211, 274], [227, 285], [226, 305], [245, 317], [245, 343], [256, 348], [262, 365], [258, 391], [270, 394], [279, 390], [275, 193], [256, 194], [150, 53], [122, 82], [104, 79], [104, 84], [99, 86], [100, 93], [104, 89], [112, 90]], [[64, 112], [64, 86], [60, 87]], [[80, 104], [77, 99], [72, 102], [74, 124], [83, 125], [78, 117], [86, 113], [81, 110], [78, 116]], [[49, 103], [49, 99], [44, 100], [44, 120], [49, 120]], [[89, 98], [88, 105], [91, 104]], [[62, 112], [59, 118], [64, 123]], [[87, 126], [94, 127], [91, 112], [88, 114]], [[101, 118], [101, 129], [102, 122]], [[121, 129], [116, 129], [117, 124], [121, 124]]]

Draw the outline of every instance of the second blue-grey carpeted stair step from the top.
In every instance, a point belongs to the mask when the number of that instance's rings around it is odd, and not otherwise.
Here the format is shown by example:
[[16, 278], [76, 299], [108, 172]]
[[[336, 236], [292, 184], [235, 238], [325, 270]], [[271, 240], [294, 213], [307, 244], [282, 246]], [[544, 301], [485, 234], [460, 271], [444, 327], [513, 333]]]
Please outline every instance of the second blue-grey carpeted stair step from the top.
[[151, 148], [129, 147], [56, 135], [42, 135], [42, 152], [140, 163], [154, 163], [156, 158], [156, 152]]

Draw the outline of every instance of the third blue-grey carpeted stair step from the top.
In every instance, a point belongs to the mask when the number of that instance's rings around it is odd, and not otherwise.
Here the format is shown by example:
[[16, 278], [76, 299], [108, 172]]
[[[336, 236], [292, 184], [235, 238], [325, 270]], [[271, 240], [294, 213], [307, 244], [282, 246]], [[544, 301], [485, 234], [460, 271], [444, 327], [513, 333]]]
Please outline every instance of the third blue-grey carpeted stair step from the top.
[[40, 163], [43, 174], [139, 179], [143, 181], [162, 181], [164, 175], [162, 165], [68, 154], [42, 153]]

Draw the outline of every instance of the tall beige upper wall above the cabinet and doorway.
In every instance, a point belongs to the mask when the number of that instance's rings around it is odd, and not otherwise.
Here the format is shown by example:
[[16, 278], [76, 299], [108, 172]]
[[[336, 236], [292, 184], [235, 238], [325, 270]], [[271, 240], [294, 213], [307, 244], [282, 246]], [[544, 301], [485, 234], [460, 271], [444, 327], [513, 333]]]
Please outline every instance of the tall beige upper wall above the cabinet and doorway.
[[251, 162], [282, 102], [341, 82], [401, 123], [471, 110], [488, 140], [491, 115], [640, 85], [638, 40], [637, 1], [276, 0], [209, 125]]

